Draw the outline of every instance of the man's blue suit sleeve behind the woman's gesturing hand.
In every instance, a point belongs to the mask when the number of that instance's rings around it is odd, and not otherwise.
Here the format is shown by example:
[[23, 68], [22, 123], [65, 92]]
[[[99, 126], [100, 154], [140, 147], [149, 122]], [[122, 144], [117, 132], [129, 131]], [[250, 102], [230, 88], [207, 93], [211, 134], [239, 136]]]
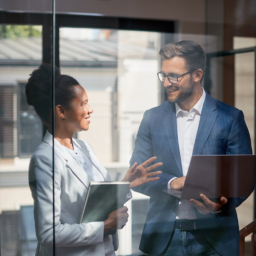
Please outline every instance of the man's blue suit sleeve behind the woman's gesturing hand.
[[[143, 119], [141, 121], [139, 130], [137, 133], [135, 147], [130, 159], [130, 166], [133, 165], [133, 163], [136, 161], [138, 162], [138, 164], [141, 164], [148, 158], [155, 156], [154, 155], [155, 152], [152, 146], [151, 130], [150, 130], [150, 127], [148, 126], [148, 122], [150, 122], [150, 120], [148, 119], [150, 119], [150, 114], [149, 114], [149, 111], [147, 110], [143, 115]], [[156, 159], [155, 162], [158, 162], [158, 160]], [[155, 169], [154, 171], [156, 170], [158, 169]], [[159, 168], [159, 170], [162, 170], [162, 168]], [[174, 176], [171, 174], [162, 172], [159, 175], [159, 177], [160, 177], [159, 180], [146, 183], [139, 187], [133, 188], [133, 190], [150, 197], [169, 200], [169, 197], [167, 196], [166, 193], [162, 191], [162, 189], [167, 188], [168, 181], [172, 179]]]

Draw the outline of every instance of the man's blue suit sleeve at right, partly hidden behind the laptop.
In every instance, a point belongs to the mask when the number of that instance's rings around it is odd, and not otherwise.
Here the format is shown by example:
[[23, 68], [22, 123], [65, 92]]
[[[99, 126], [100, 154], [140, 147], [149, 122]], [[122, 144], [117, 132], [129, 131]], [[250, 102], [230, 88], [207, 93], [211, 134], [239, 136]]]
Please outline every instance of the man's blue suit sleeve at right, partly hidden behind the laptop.
[[[251, 155], [252, 146], [248, 128], [245, 124], [244, 115], [239, 110], [234, 117], [232, 127], [227, 141], [227, 155]], [[253, 191], [253, 190], [252, 190]], [[246, 197], [228, 198], [228, 202], [221, 208], [223, 212], [217, 216], [229, 215], [230, 212], [238, 207]]]

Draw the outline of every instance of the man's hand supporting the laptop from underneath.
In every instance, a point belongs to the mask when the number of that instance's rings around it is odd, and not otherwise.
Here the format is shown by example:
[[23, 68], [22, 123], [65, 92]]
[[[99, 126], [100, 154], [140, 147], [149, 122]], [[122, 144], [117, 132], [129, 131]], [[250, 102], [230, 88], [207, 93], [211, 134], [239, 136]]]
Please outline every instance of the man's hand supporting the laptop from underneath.
[[219, 210], [222, 205], [226, 204], [228, 201], [226, 197], [221, 197], [219, 202], [211, 201], [204, 194], [200, 194], [200, 197], [204, 203], [201, 203], [195, 199], [189, 199], [188, 201], [193, 204], [196, 209], [203, 215]]

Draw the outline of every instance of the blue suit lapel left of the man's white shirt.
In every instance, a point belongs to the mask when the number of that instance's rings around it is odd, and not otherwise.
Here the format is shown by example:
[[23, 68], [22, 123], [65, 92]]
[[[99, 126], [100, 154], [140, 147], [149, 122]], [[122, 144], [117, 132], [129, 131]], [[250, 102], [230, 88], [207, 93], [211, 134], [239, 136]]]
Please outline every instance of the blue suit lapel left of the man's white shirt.
[[180, 170], [181, 175], [183, 176], [180, 149], [178, 143], [175, 104], [170, 104], [169, 102], [167, 102], [167, 104], [165, 105], [164, 113], [162, 115], [162, 120], [166, 137], [172, 151], [172, 155], [176, 161], [176, 164]]

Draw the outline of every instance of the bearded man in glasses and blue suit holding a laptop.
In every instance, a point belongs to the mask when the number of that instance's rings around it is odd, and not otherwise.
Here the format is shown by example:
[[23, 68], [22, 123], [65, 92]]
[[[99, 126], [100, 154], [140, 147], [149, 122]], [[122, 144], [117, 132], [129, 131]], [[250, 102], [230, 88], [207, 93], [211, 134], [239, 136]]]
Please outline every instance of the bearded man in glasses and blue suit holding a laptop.
[[[140, 250], [154, 255], [240, 255], [235, 208], [245, 198], [213, 202], [180, 200], [162, 191], [181, 189], [192, 155], [252, 154], [242, 111], [209, 96], [201, 87], [206, 56], [194, 41], [160, 49], [159, 80], [168, 101], [144, 113], [130, 160], [154, 155], [160, 179], [134, 190], [150, 196]], [[139, 159], [139, 160], [138, 160]]]

